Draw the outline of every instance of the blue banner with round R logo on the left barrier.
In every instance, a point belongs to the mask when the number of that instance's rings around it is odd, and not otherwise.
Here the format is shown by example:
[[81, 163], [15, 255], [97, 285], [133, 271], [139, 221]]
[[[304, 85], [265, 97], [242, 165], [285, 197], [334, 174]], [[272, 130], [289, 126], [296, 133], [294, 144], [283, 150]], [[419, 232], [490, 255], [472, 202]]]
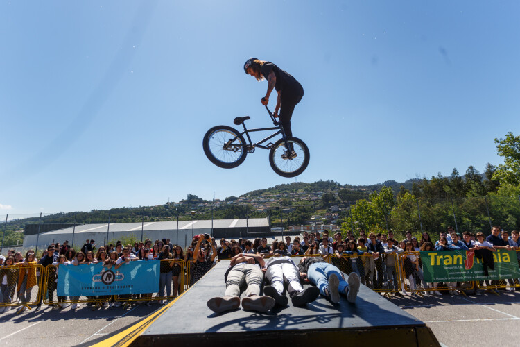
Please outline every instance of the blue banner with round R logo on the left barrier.
[[157, 293], [159, 268], [159, 260], [123, 262], [118, 269], [102, 263], [60, 265], [58, 296]]

